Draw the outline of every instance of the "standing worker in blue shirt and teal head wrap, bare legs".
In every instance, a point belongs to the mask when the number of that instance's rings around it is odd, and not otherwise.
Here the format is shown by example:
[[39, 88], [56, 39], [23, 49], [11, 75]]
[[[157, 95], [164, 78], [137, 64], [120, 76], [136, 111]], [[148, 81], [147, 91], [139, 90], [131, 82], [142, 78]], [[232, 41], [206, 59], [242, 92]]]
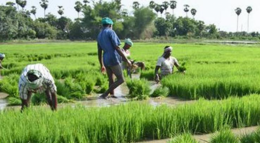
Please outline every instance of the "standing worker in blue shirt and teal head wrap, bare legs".
[[[126, 58], [123, 51], [119, 47], [121, 45], [118, 36], [113, 28], [113, 21], [106, 17], [102, 19], [103, 29], [98, 35], [98, 60], [101, 66], [101, 72], [107, 73], [109, 80], [109, 88], [100, 97], [106, 99], [108, 94], [115, 97], [114, 89], [125, 82], [122, 68], [120, 67], [120, 56], [126, 63], [131, 66], [130, 60]], [[104, 52], [103, 52], [104, 51]], [[103, 53], [103, 58], [102, 58]], [[117, 80], [114, 82], [113, 75]], [[116, 97], [115, 97], [116, 98]]]

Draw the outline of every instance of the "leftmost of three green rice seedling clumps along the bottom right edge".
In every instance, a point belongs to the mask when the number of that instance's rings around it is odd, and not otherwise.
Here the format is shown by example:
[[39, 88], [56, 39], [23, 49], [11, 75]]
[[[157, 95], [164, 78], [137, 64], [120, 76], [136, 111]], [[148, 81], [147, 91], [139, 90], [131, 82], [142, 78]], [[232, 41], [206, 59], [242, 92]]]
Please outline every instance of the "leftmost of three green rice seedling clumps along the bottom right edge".
[[199, 143], [194, 138], [192, 138], [191, 134], [182, 134], [179, 136], [174, 137], [167, 143]]

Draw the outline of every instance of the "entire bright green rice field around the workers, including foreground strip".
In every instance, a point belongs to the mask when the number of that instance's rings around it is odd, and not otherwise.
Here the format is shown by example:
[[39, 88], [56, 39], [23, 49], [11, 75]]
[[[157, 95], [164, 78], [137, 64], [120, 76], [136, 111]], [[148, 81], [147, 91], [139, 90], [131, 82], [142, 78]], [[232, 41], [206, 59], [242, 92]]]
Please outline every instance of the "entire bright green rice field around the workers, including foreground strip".
[[[173, 56], [187, 71], [176, 72], [164, 78], [161, 87], [151, 89], [157, 58], [167, 45], [174, 47]], [[55, 78], [59, 103], [103, 93], [108, 79], [99, 71], [96, 46], [94, 42], [2, 44], [6, 69], [1, 70], [0, 91], [8, 94], [9, 105], [20, 105], [22, 69], [43, 63]], [[88, 108], [76, 104], [56, 112], [45, 106], [32, 106], [23, 113], [1, 110], [0, 142], [129, 143], [173, 137], [171, 143], [181, 143], [196, 142], [190, 134], [259, 125], [259, 45], [135, 43], [130, 51], [131, 59], [145, 62], [146, 69], [137, 70], [140, 80], [126, 79], [125, 98], [133, 99], [129, 103]], [[154, 107], [135, 101], [166, 96], [194, 102]], [[36, 94], [32, 103], [44, 105], [46, 99]]]

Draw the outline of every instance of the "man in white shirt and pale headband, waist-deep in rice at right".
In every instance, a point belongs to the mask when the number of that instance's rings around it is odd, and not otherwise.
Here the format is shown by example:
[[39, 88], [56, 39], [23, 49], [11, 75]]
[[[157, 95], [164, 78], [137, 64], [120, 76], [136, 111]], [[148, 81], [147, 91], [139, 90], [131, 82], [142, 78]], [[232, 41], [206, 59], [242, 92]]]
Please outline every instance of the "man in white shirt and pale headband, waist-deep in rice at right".
[[[166, 75], [173, 73], [174, 65], [179, 69], [180, 65], [175, 57], [172, 57], [172, 47], [166, 46], [164, 48], [164, 53], [158, 59], [156, 68], [155, 68], [155, 81], [158, 83], [161, 78]], [[161, 69], [161, 75], [159, 75], [158, 70]], [[184, 71], [185, 73], [185, 71]]]

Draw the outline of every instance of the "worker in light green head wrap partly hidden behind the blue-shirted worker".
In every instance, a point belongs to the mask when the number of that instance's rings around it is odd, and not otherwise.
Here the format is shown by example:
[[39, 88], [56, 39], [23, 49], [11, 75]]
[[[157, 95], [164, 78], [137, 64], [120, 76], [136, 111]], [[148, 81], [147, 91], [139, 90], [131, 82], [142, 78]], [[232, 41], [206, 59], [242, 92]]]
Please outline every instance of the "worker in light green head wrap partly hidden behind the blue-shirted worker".
[[[123, 53], [125, 54], [125, 56], [130, 59], [130, 51], [129, 49], [133, 46], [133, 42], [131, 41], [131, 39], [127, 38], [125, 39], [125, 46], [122, 48], [122, 51]], [[145, 63], [143, 62], [134, 62], [134, 60], [130, 60], [131, 63], [132, 63], [132, 66], [129, 67], [127, 66], [127, 63], [123, 60], [121, 60], [121, 68], [123, 70], [127, 70], [127, 74], [128, 76], [131, 78], [131, 72], [132, 71], [135, 71], [138, 67], [141, 68], [141, 70], [144, 70], [145, 69]]]

